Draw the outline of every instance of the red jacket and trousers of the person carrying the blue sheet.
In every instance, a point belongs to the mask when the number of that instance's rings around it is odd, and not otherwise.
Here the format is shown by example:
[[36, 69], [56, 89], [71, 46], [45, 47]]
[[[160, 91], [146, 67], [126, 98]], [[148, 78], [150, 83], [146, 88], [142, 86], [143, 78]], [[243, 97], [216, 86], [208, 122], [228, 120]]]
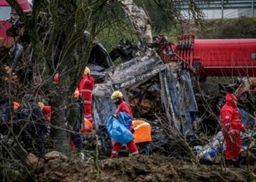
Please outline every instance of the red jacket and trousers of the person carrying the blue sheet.
[[[116, 108], [115, 114], [118, 115], [119, 112], [126, 112], [127, 114], [129, 114], [129, 116], [131, 116], [131, 118], [133, 118], [132, 109], [129, 106], [129, 104], [126, 103], [124, 100], [121, 100], [121, 102], [119, 103], [118, 107]], [[123, 146], [122, 143], [117, 143], [116, 141], [113, 143], [111, 158], [117, 157], [118, 151], [120, 151], [121, 146]], [[132, 155], [134, 156], [140, 155], [134, 141], [127, 143], [127, 148], [132, 153]]]

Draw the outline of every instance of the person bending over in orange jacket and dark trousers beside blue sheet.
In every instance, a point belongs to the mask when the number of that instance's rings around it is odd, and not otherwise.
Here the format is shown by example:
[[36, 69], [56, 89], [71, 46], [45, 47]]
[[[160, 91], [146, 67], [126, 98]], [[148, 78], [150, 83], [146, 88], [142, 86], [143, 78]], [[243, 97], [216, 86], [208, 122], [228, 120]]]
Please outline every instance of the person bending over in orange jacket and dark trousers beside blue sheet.
[[140, 154], [144, 153], [149, 155], [149, 144], [152, 141], [151, 138], [151, 125], [148, 122], [142, 120], [132, 121], [132, 133], [135, 136], [135, 144], [140, 150]]

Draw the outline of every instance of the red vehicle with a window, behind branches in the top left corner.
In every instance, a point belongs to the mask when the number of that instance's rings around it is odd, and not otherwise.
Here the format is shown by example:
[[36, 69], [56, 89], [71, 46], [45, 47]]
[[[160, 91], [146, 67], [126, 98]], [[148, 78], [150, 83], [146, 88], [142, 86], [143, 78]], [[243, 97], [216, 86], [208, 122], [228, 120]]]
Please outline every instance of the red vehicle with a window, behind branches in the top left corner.
[[[18, 0], [18, 4], [20, 4], [21, 9], [24, 12], [31, 12], [31, 5], [29, 1], [26, 0]], [[7, 36], [6, 31], [11, 27], [10, 24], [10, 16], [14, 13], [14, 9], [10, 7], [10, 4], [5, 0], [0, 0], [0, 46], [11, 47], [14, 39], [12, 37]]]

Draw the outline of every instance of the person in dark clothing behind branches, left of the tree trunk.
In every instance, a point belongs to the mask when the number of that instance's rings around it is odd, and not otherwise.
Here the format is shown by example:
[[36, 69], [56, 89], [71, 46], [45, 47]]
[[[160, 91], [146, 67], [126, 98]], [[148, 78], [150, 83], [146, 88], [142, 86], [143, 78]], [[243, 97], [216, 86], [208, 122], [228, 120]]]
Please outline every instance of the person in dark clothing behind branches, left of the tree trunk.
[[17, 111], [17, 118], [16, 132], [20, 133], [20, 139], [23, 141], [26, 151], [34, 151], [34, 141], [37, 150], [39, 153], [42, 153], [45, 147], [47, 125], [45, 124], [45, 119], [40, 107], [34, 102], [34, 95], [24, 95], [23, 103]]

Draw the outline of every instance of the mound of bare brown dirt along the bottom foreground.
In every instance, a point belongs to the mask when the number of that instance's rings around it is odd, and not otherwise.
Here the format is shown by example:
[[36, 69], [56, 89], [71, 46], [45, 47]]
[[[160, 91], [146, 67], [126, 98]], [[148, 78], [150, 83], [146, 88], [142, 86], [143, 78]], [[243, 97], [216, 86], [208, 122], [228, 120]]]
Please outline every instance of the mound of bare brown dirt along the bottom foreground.
[[[34, 169], [38, 181], [245, 181], [244, 169], [193, 165], [153, 155], [99, 160], [69, 159], [55, 153], [41, 159]], [[31, 162], [33, 164], [33, 162]]]

